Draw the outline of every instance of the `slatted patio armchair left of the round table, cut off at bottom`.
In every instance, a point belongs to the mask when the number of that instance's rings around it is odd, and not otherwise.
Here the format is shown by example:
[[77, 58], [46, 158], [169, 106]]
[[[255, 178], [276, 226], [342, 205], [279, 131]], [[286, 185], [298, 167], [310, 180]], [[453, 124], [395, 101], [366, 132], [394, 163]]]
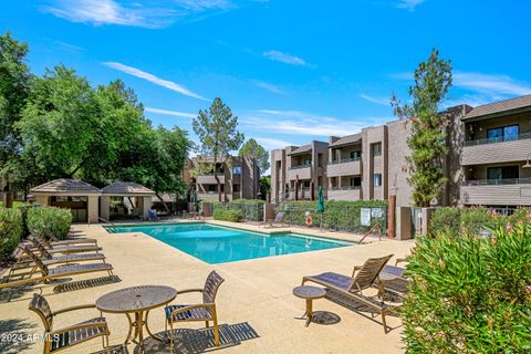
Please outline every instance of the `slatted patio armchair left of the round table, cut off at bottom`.
[[44, 354], [55, 353], [66, 347], [77, 345], [88, 340], [102, 337], [103, 348], [106, 353], [108, 351], [108, 331], [107, 321], [105, 317], [94, 317], [87, 321], [69, 325], [60, 330], [53, 329], [53, 320], [56, 315], [62, 313], [70, 313], [72, 311], [94, 309], [94, 304], [77, 305], [72, 308], [62, 309], [52, 312], [50, 305], [43, 296], [40, 294], [33, 294], [33, 299], [30, 301], [29, 310], [35, 312], [44, 324]]

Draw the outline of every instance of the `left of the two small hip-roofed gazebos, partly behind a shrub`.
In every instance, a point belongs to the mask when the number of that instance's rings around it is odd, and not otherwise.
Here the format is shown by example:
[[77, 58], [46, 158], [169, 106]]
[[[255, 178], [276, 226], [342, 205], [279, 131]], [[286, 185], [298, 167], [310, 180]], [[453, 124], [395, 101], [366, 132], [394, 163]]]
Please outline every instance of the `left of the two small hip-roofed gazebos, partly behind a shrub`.
[[59, 178], [31, 189], [35, 202], [42, 206], [67, 208], [73, 221], [97, 222], [98, 188], [79, 179]]

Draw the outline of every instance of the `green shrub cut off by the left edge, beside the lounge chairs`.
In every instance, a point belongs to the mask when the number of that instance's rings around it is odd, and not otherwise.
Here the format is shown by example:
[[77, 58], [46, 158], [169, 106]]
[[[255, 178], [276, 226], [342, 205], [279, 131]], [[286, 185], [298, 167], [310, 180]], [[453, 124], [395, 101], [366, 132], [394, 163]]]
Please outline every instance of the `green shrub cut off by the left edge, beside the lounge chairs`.
[[22, 214], [15, 208], [0, 207], [0, 261], [11, 258], [22, 238]]

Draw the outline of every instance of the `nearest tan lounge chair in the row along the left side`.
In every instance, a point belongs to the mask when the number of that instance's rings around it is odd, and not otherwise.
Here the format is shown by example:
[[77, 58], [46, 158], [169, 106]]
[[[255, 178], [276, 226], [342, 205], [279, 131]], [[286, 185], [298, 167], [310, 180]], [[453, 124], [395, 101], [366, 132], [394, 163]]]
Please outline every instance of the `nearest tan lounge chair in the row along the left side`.
[[[44, 262], [25, 246], [24, 251], [30, 256], [37, 267], [31, 272], [21, 275], [20, 279], [17, 280], [12, 280], [13, 277], [2, 278], [0, 280], [0, 289], [93, 272], [107, 272], [110, 275], [113, 275], [113, 266], [110, 263], [65, 264], [55, 268], [48, 268], [48, 266], [45, 266]], [[33, 277], [38, 271], [41, 273], [41, 277]]]

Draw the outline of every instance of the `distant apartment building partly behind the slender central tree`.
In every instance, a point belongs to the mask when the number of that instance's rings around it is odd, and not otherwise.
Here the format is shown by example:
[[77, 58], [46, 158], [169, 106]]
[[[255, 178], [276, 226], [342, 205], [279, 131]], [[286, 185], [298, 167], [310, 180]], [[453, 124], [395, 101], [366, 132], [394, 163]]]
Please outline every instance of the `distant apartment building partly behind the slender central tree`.
[[[214, 159], [211, 157], [195, 157], [188, 166], [191, 169], [197, 169], [197, 166], [200, 163], [214, 165]], [[208, 174], [191, 174], [191, 176], [195, 175], [195, 177], [190, 177], [190, 183], [197, 191], [199, 199], [218, 200], [218, 184], [214, 177], [214, 168], [216, 168], [220, 180], [221, 198], [223, 201], [240, 198], [257, 198], [259, 189], [258, 184], [260, 180], [260, 168], [258, 167], [257, 162], [248, 156], [231, 156], [228, 165], [220, 162], [217, 163], [216, 166], [207, 168], [211, 170]]]

